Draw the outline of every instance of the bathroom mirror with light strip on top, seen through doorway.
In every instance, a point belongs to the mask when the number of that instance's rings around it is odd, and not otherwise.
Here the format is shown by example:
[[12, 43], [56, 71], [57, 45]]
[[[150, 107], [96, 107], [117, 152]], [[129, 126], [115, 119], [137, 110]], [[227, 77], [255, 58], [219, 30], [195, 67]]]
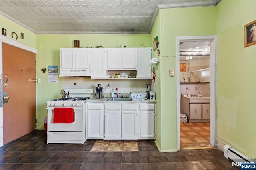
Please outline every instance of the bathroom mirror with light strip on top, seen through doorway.
[[180, 43], [181, 83], [210, 82], [209, 45], [209, 42], [200, 41]]

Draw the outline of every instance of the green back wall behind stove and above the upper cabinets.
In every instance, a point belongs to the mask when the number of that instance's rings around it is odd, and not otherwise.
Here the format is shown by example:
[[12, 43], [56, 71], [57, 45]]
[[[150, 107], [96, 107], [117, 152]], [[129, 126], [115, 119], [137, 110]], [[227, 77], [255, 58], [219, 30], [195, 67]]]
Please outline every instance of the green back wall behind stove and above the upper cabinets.
[[41, 82], [37, 84], [36, 114], [37, 129], [44, 129], [43, 118], [46, 117], [46, 101], [62, 96], [62, 77], [58, 83], [48, 83], [48, 74], [42, 73], [41, 69], [48, 65], [60, 67], [60, 48], [72, 48], [73, 41], [80, 40], [80, 47], [96, 47], [101, 45], [106, 48], [120, 47], [150, 47], [150, 34], [42, 34], [37, 35], [37, 75]]

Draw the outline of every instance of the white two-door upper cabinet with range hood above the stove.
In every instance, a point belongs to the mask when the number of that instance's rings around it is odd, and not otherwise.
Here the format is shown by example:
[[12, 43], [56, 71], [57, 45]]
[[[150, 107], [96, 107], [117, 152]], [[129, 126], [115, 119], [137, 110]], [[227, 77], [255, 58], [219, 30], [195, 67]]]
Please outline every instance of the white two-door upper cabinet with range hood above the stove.
[[61, 48], [60, 77], [91, 76], [92, 49]]

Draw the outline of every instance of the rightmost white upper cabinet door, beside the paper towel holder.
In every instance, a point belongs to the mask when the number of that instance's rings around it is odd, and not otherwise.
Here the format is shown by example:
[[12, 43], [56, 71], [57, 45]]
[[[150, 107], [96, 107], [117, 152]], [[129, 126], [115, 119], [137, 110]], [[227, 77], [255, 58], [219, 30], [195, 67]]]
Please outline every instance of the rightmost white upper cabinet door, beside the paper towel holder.
[[138, 48], [137, 78], [151, 78], [152, 67], [148, 64], [152, 59], [152, 48]]

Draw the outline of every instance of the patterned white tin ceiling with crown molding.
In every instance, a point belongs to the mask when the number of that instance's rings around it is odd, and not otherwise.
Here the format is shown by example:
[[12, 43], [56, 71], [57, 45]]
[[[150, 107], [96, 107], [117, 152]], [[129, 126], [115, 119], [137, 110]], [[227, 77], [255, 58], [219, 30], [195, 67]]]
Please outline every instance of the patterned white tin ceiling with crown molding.
[[158, 9], [220, 0], [1, 0], [0, 14], [36, 34], [149, 34]]

